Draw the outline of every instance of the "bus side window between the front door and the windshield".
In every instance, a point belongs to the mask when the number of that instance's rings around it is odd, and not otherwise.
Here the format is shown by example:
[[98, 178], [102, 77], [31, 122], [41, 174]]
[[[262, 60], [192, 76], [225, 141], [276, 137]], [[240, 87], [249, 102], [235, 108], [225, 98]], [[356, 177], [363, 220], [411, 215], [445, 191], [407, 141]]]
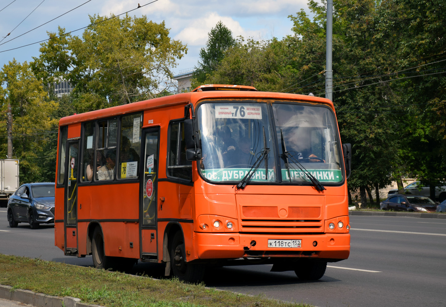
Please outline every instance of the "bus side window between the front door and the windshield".
[[169, 157], [167, 159], [167, 176], [192, 180], [192, 162], [186, 160], [186, 142], [184, 122], [169, 124]]

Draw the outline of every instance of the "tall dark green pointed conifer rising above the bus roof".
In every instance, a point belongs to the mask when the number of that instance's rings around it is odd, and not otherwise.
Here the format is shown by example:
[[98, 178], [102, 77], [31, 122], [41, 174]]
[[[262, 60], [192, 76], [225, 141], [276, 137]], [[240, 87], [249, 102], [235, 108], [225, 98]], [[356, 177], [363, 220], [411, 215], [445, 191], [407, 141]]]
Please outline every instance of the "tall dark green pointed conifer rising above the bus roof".
[[[219, 62], [223, 59], [226, 50], [235, 45], [235, 39], [232, 37], [232, 32], [221, 21], [219, 21], [211, 32], [207, 34], [209, 37], [206, 42], [206, 49], [201, 48], [200, 59], [198, 67], [195, 67], [192, 75], [194, 85], [204, 84], [206, 74], [215, 70]], [[193, 86], [194, 87], [194, 86]]]

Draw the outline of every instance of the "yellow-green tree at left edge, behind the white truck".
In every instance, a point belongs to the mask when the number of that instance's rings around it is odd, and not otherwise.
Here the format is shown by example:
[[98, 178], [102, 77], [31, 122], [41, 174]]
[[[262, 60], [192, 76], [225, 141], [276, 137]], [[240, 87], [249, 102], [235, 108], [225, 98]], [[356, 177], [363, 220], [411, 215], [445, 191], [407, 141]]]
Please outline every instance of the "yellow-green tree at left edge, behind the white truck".
[[[20, 160], [21, 183], [54, 181], [54, 172], [51, 177], [45, 176], [41, 165], [47, 160], [54, 163], [55, 156], [46, 156], [43, 148], [51, 136], [57, 136], [58, 119], [52, 118], [51, 114], [58, 108], [58, 103], [48, 98], [27, 62], [21, 64], [14, 59], [4, 65], [0, 84], [4, 87], [0, 96], [1, 109], [5, 110], [8, 103], [12, 107], [12, 156]], [[0, 145], [0, 154], [5, 156], [5, 134], [1, 139], [4, 141]]]

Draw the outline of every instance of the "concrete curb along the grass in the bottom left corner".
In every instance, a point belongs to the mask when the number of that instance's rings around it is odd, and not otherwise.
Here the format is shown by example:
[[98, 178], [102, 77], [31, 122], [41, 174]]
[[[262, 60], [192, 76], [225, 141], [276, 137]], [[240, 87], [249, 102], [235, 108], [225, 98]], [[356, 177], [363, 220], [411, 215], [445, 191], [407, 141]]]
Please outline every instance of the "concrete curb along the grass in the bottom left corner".
[[0, 299], [8, 299], [35, 307], [101, 307], [82, 303], [80, 299], [70, 296], [58, 297], [29, 290], [12, 289], [12, 286], [0, 285]]

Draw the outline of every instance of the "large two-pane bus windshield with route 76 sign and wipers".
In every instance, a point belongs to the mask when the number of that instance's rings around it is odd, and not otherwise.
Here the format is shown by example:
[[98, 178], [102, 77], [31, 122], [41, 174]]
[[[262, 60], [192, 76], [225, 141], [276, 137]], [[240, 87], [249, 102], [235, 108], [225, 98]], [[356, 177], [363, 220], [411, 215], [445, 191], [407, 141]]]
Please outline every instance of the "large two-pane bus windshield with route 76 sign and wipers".
[[310, 174], [343, 181], [338, 126], [326, 106], [231, 100], [203, 103], [197, 117], [199, 169], [209, 181], [236, 183], [247, 173], [251, 183], [311, 185]]

